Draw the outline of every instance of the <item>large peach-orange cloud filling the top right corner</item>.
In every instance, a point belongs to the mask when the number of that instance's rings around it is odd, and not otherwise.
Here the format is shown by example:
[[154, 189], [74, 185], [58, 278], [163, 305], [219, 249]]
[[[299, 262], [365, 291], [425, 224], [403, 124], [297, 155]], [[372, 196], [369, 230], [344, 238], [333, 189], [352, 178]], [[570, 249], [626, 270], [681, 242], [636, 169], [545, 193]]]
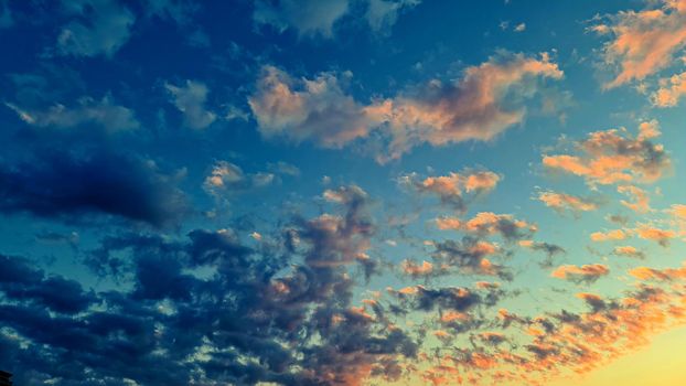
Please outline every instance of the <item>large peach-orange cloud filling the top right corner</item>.
[[[680, 0], [651, 1], [641, 11], [621, 11], [592, 28], [610, 37], [603, 46], [605, 64], [619, 67], [604, 85], [613, 88], [669, 67], [686, 45], [686, 7]], [[655, 7], [657, 6], [657, 7]]]

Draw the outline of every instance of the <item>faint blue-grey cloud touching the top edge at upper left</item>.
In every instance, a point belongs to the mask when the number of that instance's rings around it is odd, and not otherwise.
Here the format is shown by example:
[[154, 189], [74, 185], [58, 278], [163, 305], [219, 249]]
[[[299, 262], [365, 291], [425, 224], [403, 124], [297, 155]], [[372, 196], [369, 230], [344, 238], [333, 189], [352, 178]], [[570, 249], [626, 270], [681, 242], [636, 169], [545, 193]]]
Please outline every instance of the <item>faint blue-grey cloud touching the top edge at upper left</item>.
[[60, 31], [60, 55], [111, 58], [129, 41], [136, 21], [133, 13], [115, 0], [69, 1], [64, 10], [75, 20]]

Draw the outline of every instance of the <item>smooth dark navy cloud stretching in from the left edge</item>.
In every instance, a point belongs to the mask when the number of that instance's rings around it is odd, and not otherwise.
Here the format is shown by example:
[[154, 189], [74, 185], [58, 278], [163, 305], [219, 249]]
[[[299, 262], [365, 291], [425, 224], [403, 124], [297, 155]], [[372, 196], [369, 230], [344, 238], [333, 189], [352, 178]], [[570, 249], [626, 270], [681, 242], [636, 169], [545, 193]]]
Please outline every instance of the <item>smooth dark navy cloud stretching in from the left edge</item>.
[[0, 212], [46, 218], [99, 213], [169, 225], [187, 212], [176, 180], [151, 161], [42, 150], [25, 161], [0, 163]]

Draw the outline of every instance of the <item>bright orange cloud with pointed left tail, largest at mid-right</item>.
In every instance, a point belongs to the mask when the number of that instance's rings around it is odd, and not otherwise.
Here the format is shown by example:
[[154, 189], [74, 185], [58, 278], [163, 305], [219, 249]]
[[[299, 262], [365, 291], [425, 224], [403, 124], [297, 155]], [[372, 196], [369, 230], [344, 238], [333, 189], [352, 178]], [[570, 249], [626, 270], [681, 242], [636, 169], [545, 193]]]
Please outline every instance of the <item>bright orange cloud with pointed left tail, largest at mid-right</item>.
[[664, 147], [651, 141], [658, 135], [654, 120], [640, 125], [636, 138], [624, 129], [594, 131], [576, 143], [580, 154], [544, 156], [543, 164], [582, 176], [589, 185], [654, 182], [672, 165]]

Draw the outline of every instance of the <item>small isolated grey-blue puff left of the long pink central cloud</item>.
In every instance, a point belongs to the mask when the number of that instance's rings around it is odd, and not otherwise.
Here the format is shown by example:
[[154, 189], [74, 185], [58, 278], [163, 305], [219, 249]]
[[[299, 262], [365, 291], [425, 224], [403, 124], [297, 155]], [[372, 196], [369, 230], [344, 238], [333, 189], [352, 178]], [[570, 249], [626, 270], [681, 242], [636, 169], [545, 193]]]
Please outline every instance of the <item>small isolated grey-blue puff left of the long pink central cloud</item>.
[[204, 83], [186, 81], [183, 86], [165, 84], [172, 103], [183, 114], [183, 122], [192, 129], [204, 129], [212, 125], [217, 115], [205, 107], [210, 93]]

